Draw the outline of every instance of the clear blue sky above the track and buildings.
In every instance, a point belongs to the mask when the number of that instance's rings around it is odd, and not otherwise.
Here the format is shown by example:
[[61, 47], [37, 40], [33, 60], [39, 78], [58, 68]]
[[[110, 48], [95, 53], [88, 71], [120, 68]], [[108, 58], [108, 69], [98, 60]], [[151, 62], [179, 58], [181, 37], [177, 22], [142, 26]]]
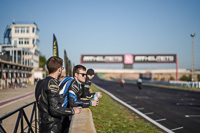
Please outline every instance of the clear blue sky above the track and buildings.
[[[35, 21], [39, 49], [52, 56], [53, 33], [59, 55], [74, 64], [81, 54], [177, 54], [179, 68], [191, 69], [196, 33], [195, 68], [200, 69], [200, 0], [3, 0], [0, 42], [12, 21]], [[88, 64], [87, 67], [95, 65]], [[96, 67], [122, 65], [96, 65]], [[134, 68], [175, 68], [143, 64]]]

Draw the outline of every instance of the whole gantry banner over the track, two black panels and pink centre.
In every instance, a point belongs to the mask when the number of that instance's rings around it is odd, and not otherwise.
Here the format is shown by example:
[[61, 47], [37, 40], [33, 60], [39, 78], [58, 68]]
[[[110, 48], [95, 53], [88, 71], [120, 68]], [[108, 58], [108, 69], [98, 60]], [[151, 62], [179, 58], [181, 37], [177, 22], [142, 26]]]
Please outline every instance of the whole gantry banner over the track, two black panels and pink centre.
[[176, 63], [176, 54], [81, 55], [82, 63]]

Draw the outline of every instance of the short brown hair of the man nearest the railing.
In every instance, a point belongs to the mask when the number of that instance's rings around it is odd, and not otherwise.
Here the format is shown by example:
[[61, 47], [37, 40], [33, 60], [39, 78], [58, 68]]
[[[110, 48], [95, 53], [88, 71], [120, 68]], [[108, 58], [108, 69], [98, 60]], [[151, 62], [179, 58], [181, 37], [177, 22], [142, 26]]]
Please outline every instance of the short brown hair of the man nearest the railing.
[[52, 56], [47, 60], [47, 69], [50, 73], [54, 73], [58, 70], [58, 68], [62, 67], [63, 59], [57, 56]]

